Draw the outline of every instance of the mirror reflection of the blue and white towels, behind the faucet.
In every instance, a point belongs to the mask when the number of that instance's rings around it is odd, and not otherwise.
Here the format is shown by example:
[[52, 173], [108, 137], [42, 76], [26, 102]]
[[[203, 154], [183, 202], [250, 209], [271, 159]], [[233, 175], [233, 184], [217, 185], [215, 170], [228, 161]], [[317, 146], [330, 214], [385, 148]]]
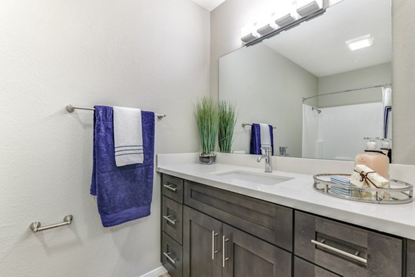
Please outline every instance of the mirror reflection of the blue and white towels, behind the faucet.
[[273, 126], [253, 123], [250, 137], [250, 154], [261, 155], [261, 146], [271, 146], [274, 155]]

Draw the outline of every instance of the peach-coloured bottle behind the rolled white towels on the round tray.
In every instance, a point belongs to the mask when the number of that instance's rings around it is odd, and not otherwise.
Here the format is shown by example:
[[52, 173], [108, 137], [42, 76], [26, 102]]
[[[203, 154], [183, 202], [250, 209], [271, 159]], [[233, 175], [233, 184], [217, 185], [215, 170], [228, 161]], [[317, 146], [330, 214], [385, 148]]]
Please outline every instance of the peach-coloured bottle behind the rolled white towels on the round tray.
[[378, 151], [376, 144], [378, 138], [364, 137], [364, 140], [366, 140], [366, 150], [365, 153], [356, 156], [356, 165], [365, 164], [383, 178], [389, 179], [389, 157], [382, 151]]

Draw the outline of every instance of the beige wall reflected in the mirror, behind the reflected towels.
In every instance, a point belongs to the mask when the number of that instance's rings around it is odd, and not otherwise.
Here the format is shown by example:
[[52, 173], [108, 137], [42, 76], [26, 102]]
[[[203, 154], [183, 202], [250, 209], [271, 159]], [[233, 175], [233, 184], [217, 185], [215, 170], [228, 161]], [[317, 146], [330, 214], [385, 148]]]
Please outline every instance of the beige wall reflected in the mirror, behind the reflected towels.
[[237, 105], [232, 150], [249, 153], [251, 128], [241, 123], [261, 122], [276, 128], [274, 155], [286, 146], [289, 155], [301, 157], [302, 97], [317, 95], [317, 77], [265, 44], [241, 48], [219, 63], [220, 98]]

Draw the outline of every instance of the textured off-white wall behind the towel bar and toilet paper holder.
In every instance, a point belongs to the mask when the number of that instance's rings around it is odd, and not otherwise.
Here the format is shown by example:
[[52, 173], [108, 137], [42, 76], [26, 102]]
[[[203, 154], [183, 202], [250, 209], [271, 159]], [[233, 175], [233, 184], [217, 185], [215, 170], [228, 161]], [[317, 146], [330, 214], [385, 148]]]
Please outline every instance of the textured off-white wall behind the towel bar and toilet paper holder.
[[[197, 151], [192, 101], [208, 94], [209, 12], [188, 0], [0, 3], [0, 276], [140, 276], [160, 266], [151, 216], [104, 229], [89, 195], [93, 113], [166, 113], [156, 153]], [[70, 227], [28, 229], [60, 222]]]

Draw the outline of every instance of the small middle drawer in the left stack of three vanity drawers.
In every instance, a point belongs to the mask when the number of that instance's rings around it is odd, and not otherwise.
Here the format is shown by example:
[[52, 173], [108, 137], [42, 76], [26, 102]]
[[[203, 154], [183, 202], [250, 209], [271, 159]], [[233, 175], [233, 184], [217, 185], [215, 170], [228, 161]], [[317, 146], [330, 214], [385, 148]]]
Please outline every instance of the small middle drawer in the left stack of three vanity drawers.
[[162, 229], [169, 236], [182, 244], [183, 236], [183, 205], [163, 196]]

